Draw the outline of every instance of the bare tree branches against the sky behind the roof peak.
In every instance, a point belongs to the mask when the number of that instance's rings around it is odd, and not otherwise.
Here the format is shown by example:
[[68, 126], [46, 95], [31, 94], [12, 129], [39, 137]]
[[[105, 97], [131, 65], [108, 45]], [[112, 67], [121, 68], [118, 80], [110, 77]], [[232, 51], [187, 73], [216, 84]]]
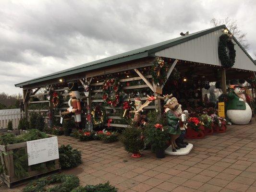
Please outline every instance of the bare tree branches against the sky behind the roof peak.
[[227, 17], [225, 19], [212, 18], [210, 20], [210, 24], [212, 26], [219, 26], [221, 24], [225, 24], [227, 26], [227, 28], [230, 30], [230, 32], [233, 34], [233, 36], [244, 47], [244, 49], [245, 50], [249, 49], [250, 44], [248, 43], [248, 41], [246, 39], [246, 33], [243, 33], [241, 30], [238, 29], [236, 20], [233, 20], [229, 17]]

